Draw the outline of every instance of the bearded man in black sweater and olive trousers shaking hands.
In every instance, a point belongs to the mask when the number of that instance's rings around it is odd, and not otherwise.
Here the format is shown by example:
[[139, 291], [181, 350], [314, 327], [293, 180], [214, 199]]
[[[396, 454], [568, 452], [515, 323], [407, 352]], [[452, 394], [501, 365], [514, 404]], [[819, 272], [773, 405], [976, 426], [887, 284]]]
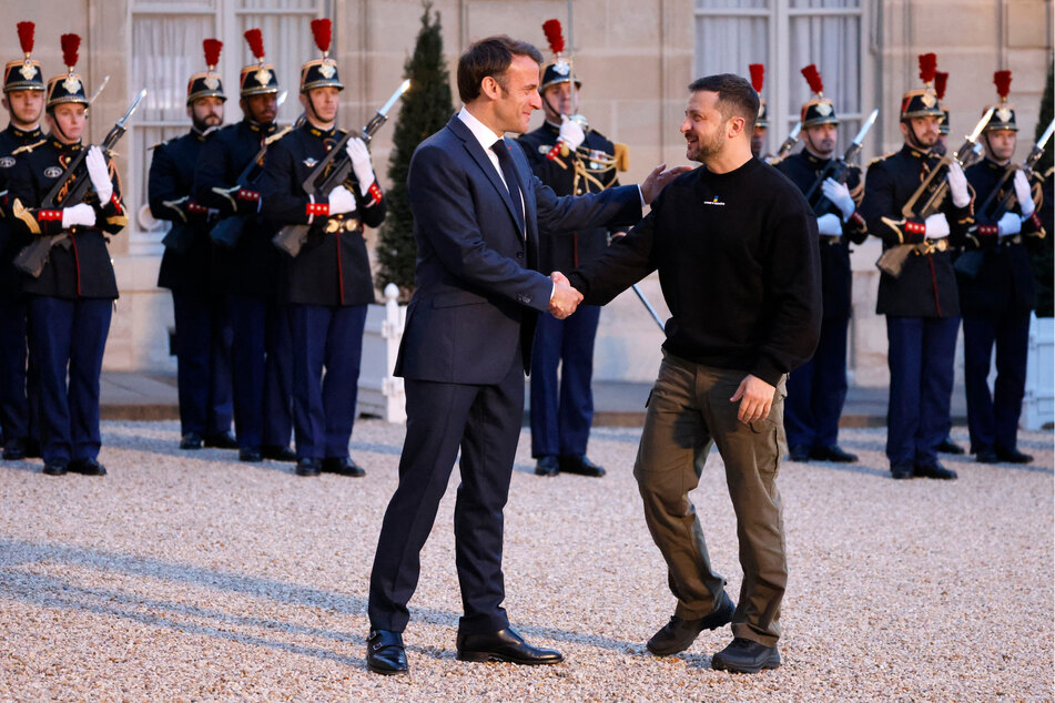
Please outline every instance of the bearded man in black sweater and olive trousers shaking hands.
[[[659, 269], [671, 318], [633, 475], [678, 604], [648, 648], [674, 654], [731, 621], [734, 639], [712, 663], [753, 673], [780, 665], [788, 569], [775, 478], [787, 375], [820, 334], [816, 218], [799, 189], [751, 157], [759, 98], [750, 83], [711, 75], [689, 90], [681, 132], [703, 167], [667, 186], [641, 224], [569, 279], [584, 303], [603, 305]], [[712, 444], [738, 518], [739, 608], [688, 498]]]

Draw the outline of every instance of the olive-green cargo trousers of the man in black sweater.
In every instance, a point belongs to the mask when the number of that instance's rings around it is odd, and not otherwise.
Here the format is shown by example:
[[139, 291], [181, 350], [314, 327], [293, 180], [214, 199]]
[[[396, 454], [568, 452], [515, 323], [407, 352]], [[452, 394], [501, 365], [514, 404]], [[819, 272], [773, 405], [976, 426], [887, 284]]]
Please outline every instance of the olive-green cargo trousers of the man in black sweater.
[[698, 619], [713, 612], [726, 585], [711, 566], [703, 530], [689, 500], [712, 445], [726, 463], [737, 513], [743, 583], [732, 633], [773, 645], [780, 638], [780, 603], [788, 582], [783, 517], [777, 473], [787, 451], [785, 379], [764, 420], [744, 425], [730, 403], [745, 371], [696, 364], [665, 353], [649, 395], [633, 477], [645, 521], [667, 561], [674, 614]]

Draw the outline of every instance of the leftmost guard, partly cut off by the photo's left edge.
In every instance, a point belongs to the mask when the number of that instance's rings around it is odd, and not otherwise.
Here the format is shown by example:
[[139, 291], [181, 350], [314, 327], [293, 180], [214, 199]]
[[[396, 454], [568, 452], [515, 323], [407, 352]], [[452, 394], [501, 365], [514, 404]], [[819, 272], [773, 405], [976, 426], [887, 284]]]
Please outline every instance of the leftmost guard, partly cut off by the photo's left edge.
[[16, 151], [41, 141], [40, 118], [44, 111], [44, 80], [40, 63], [33, 61], [32, 22], [18, 23], [23, 58], [9, 62], [3, 70], [3, 106], [10, 115], [0, 132], [0, 435], [3, 458], [17, 461], [40, 456], [37, 427], [38, 403], [35, 360], [29, 366], [27, 383], [27, 298], [22, 275], [14, 267], [14, 255], [30, 243], [6, 216], [10, 210], [8, 181], [14, 169]]

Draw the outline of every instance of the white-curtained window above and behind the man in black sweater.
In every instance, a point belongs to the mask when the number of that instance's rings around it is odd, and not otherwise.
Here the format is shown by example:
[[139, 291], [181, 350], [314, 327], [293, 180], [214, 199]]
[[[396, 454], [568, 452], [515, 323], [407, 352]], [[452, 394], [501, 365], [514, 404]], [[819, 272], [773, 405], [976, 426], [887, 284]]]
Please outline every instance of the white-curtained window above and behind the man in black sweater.
[[[696, 77], [748, 75], [751, 63], [765, 64], [762, 96], [769, 108], [768, 151], [775, 150], [810, 99], [799, 72], [815, 63], [824, 95], [835, 103], [839, 151], [844, 151], [865, 112], [864, 60], [868, 17], [862, 0], [696, 0]], [[875, 135], [865, 153], [879, 151]], [[873, 147], [869, 149], [872, 143]]]

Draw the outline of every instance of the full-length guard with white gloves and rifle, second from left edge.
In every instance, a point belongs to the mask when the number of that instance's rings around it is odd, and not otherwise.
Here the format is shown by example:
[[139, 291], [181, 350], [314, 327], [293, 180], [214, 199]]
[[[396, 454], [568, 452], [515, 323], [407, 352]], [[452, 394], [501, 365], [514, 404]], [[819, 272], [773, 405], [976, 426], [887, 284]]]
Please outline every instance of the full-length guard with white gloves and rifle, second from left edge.
[[[33, 272], [38, 275], [23, 277], [30, 354], [40, 369], [41, 456], [44, 473], [50, 476], [68, 470], [90, 476], [106, 472], [97, 460], [99, 375], [118, 297], [106, 243], [108, 235], [128, 224], [110, 155], [81, 143], [89, 100], [74, 69], [80, 42], [77, 34], [62, 35], [69, 70], [48, 81], [50, 133], [16, 150], [18, 161], [8, 184], [9, 215], [16, 227], [31, 235], [34, 244], [44, 237], [52, 244], [47, 263]], [[77, 167], [67, 174], [71, 165]], [[75, 179], [90, 179], [91, 187], [81, 202], [67, 198], [79, 191]], [[57, 184], [60, 190], [51, 203]]]

